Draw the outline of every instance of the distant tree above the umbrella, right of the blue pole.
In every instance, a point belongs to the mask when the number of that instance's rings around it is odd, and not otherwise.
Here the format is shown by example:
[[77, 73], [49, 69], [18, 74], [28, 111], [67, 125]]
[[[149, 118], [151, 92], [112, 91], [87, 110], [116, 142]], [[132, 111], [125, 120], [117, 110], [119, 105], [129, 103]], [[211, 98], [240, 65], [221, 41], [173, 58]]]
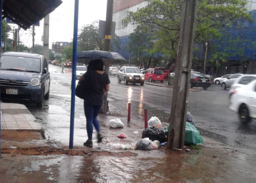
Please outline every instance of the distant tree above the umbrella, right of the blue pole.
[[[98, 38], [99, 35], [99, 22], [93, 22], [84, 26], [78, 35], [78, 46], [82, 51], [86, 50], [94, 50], [104, 49], [104, 39]], [[112, 44], [117, 48], [120, 47], [119, 38], [116, 36], [115, 39], [112, 40]]]

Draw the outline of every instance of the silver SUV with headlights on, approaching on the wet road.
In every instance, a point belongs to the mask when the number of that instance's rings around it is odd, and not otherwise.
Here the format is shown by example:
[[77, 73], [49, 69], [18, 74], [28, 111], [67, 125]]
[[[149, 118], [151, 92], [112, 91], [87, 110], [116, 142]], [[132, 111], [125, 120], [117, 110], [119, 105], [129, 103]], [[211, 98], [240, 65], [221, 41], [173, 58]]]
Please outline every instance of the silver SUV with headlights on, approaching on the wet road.
[[125, 84], [133, 83], [144, 85], [144, 75], [140, 72], [137, 67], [122, 67], [117, 76], [118, 83], [124, 81]]

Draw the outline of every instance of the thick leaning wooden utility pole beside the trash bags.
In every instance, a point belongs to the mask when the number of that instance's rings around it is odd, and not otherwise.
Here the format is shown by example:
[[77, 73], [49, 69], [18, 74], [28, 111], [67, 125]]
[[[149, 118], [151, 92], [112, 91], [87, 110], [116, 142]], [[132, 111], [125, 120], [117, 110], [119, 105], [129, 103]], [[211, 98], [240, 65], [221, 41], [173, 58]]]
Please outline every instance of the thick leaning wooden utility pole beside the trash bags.
[[172, 108], [169, 119], [167, 143], [167, 148], [169, 149], [183, 149], [184, 146], [197, 4], [198, 0], [183, 1], [180, 20], [180, 40], [177, 52], [174, 90], [172, 94]]

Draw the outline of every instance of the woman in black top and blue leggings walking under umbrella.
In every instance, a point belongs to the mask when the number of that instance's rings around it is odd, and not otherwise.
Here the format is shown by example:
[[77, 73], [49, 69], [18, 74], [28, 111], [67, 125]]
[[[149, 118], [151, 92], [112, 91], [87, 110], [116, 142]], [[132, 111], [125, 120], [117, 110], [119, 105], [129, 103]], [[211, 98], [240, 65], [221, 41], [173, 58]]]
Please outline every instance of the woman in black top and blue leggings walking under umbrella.
[[102, 60], [92, 60], [87, 67], [87, 72], [79, 80], [85, 84], [84, 91], [84, 114], [86, 117], [86, 128], [88, 140], [84, 146], [93, 147], [93, 126], [98, 132], [98, 143], [102, 141], [97, 116], [103, 103], [104, 90], [109, 91], [108, 74], [104, 72]]

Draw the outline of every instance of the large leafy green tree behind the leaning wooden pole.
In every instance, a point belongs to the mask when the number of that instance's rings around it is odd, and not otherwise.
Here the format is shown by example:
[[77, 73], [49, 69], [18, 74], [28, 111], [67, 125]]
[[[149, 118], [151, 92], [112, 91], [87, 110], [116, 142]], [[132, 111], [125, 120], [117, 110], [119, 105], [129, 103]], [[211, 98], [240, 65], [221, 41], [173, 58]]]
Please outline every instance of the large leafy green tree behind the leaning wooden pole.
[[[153, 27], [156, 41], [152, 51], [168, 56], [169, 65], [172, 65], [177, 54], [183, 1], [146, 1], [147, 5], [144, 8], [138, 9], [137, 12], [128, 12], [128, 17], [122, 22], [124, 25], [128, 23], [143, 25], [144, 29]], [[240, 20], [251, 21], [250, 15], [244, 8], [245, 5], [246, 2], [242, 0], [226, 0], [225, 2], [223, 0], [199, 0], [195, 43], [205, 45], [209, 42], [209, 48], [211, 48], [213, 45], [211, 46], [210, 41], [220, 39], [224, 33], [223, 29]], [[230, 54], [223, 54], [220, 61], [226, 61]]]

